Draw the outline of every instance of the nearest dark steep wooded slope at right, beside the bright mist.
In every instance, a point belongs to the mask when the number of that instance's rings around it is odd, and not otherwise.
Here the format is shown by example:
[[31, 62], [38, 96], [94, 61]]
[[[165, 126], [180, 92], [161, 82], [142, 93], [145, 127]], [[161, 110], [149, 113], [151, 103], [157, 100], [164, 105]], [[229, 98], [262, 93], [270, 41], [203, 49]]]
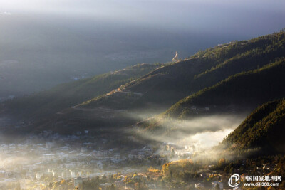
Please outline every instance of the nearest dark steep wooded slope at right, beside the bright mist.
[[285, 100], [275, 100], [258, 107], [236, 130], [229, 134], [220, 147], [244, 152], [285, 152]]

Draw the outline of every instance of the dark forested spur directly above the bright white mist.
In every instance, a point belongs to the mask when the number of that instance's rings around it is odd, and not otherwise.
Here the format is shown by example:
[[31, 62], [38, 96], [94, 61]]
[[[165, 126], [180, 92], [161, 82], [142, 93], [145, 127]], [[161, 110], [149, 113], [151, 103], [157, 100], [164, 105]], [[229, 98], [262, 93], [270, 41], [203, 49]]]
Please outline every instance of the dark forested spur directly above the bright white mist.
[[[226, 80], [185, 97], [170, 107], [165, 115], [186, 118], [201, 113], [241, 112], [264, 102], [285, 97], [285, 59], [263, 68], [232, 75]], [[195, 106], [195, 108], [192, 108]]]

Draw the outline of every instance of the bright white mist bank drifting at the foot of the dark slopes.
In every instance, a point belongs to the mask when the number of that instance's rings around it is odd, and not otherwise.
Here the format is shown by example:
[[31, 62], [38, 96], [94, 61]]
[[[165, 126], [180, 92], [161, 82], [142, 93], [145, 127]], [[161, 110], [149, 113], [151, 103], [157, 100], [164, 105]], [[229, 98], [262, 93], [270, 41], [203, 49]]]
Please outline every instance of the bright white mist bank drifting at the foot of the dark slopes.
[[180, 146], [198, 144], [202, 149], [209, 149], [222, 142], [222, 139], [238, 127], [244, 118], [245, 115], [211, 115], [190, 120], [160, 118], [157, 130], [135, 126], [133, 132], [146, 140]]

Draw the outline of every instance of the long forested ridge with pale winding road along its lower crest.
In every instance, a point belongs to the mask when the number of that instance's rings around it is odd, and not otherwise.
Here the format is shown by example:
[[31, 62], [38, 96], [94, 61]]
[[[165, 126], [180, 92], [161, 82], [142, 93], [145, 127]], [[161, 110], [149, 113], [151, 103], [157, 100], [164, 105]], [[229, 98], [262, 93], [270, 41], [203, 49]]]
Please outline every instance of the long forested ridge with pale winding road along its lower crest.
[[284, 55], [283, 31], [249, 41], [227, 43], [157, 68], [142, 78], [122, 85], [116, 92], [94, 98], [81, 106], [122, 109], [153, 105], [167, 107], [230, 75], [261, 68]]

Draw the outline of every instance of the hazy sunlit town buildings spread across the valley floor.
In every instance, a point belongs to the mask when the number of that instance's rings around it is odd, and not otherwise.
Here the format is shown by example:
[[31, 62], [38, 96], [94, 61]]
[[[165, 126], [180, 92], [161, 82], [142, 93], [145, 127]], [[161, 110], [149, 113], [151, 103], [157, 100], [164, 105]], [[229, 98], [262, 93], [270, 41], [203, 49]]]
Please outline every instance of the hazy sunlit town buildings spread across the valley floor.
[[[87, 135], [89, 132], [82, 133]], [[90, 141], [81, 134], [64, 139], [55, 135], [42, 132], [41, 138], [48, 137], [49, 142], [31, 138], [21, 143], [0, 144], [0, 189], [13, 183], [20, 184], [21, 189], [31, 189], [62, 179], [71, 179], [76, 185], [90, 177], [134, 172], [131, 165], [134, 163], [160, 165], [168, 162], [170, 157], [192, 157], [199, 151], [196, 145], [171, 143], [163, 143], [158, 149], [150, 146], [125, 151], [115, 147], [103, 149], [99, 142], [105, 144], [105, 139]]]

